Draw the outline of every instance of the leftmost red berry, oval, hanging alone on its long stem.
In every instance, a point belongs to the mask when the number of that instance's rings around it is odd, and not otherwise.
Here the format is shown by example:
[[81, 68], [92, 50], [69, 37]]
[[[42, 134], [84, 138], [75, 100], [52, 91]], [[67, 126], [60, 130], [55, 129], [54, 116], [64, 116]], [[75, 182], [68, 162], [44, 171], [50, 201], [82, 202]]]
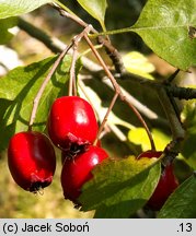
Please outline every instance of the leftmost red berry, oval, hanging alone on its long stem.
[[51, 184], [56, 156], [50, 140], [41, 132], [14, 134], [8, 148], [8, 164], [15, 182], [36, 192]]

